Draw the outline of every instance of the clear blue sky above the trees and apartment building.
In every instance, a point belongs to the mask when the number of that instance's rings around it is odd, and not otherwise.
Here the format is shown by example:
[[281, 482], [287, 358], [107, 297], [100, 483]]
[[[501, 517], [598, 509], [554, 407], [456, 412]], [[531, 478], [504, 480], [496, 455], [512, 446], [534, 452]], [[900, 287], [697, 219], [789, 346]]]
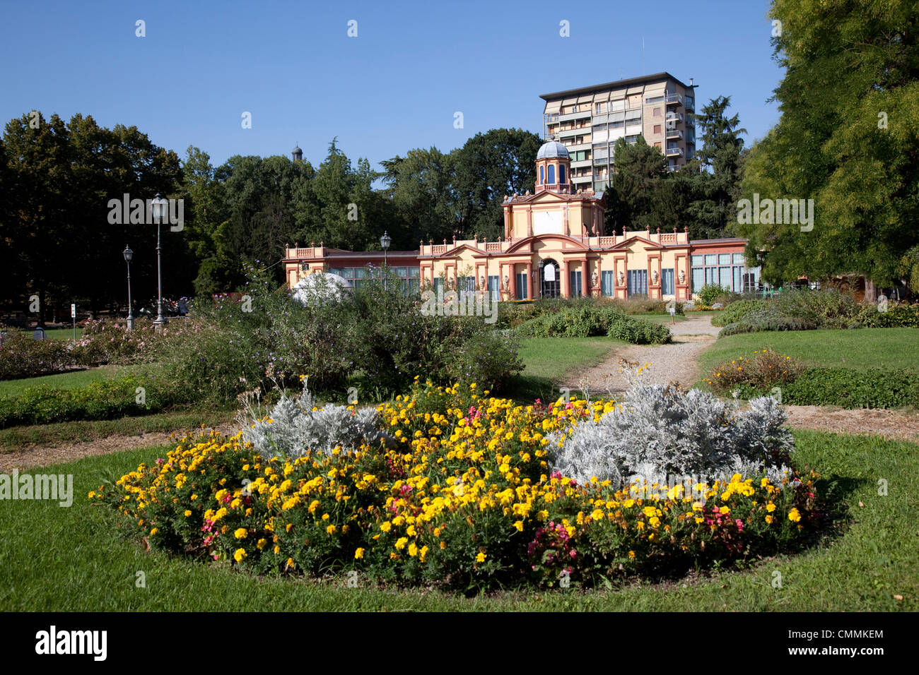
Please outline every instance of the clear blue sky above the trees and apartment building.
[[7, 2], [0, 117], [83, 113], [135, 125], [181, 157], [197, 145], [214, 165], [289, 156], [295, 142], [317, 165], [336, 136], [352, 162], [380, 168], [497, 127], [541, 133], [540, 94], [667, 71], [695, 78], [698, 104], [731, 96], [748, 143], [776, 124], [767, 2], [579, 3], [580, 15], [563, 5]]

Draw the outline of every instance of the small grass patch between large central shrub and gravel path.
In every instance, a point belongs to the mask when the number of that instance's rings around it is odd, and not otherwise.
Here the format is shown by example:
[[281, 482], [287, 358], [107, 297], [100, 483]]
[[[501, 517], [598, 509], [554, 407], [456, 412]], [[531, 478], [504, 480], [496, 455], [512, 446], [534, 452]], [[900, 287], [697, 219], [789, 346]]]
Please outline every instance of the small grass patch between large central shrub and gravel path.
[[607, 337], [526, 338], [520, 341], [520, 359], [527, 366], [502, 396], [518, 403], [555, 400], [557, 385], [576, 368], [596, 366], [616, 347], [628, 343]]

